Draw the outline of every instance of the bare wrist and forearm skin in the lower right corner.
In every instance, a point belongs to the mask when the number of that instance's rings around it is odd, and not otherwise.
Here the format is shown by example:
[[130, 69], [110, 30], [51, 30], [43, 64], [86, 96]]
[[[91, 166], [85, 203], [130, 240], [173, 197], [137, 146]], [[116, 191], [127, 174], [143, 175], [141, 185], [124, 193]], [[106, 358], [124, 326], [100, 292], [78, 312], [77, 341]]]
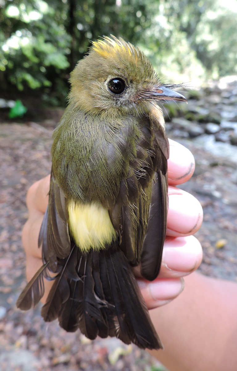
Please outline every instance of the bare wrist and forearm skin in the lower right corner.
[[194, 272], [168, 305], [150, 311], [170, 371], [237, 370], [237, 283]]

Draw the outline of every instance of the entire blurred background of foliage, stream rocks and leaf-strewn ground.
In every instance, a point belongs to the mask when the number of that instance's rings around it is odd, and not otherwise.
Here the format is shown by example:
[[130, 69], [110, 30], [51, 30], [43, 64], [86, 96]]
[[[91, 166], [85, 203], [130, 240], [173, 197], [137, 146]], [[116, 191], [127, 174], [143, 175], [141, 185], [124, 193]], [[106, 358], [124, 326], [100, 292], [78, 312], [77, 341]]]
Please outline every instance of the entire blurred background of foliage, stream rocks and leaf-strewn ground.
[[188, 104], [163, 108], [168, 136], [196, 160], [181, 188], [204, 210], [200, 271], [237, 281], [237, 0], [0, 0], [1, 371], [165, 370], [135, 346], [67, 334], [43, 322], [40, 305], [15, 304], [27, 189], [50, 173], [71, 70], [89, 40], [110, 34], [140, 47], [164, 82], [183, 83]]

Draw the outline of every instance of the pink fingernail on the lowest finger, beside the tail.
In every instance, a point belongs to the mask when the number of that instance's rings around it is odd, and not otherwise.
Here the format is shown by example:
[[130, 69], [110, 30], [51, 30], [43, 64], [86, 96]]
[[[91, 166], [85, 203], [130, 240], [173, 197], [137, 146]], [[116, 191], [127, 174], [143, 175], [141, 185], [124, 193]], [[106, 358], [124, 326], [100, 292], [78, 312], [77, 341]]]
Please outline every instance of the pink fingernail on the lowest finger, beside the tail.
[[[183, 278], [157, 279], [150, 283], [150, 295], [155, 301], [167, 303], [184, 289]], [[161, 305], [159, 303], [159, 305]]]

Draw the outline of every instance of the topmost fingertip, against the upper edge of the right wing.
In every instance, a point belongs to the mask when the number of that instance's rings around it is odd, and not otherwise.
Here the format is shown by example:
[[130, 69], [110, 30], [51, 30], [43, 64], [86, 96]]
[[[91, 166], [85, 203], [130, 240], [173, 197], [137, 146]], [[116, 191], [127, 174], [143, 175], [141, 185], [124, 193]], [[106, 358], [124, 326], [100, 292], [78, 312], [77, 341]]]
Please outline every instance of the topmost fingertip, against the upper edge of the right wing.
[[172, 139], [169, 139], [169, 143], [168, 182], [172, 185], [185, 183], [191, 178], [195, 169], [193, 154]]

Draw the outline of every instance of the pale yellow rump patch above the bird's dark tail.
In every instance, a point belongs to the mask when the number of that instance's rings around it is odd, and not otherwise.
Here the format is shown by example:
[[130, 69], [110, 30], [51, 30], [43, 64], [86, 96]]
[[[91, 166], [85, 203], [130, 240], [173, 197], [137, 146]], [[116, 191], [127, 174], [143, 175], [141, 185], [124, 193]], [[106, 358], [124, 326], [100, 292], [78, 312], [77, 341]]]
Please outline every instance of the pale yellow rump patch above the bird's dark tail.
[[105, 249], [116, 239], [109, 211], [97, 203], [68, 204], [69, 230], [82, 252]]

